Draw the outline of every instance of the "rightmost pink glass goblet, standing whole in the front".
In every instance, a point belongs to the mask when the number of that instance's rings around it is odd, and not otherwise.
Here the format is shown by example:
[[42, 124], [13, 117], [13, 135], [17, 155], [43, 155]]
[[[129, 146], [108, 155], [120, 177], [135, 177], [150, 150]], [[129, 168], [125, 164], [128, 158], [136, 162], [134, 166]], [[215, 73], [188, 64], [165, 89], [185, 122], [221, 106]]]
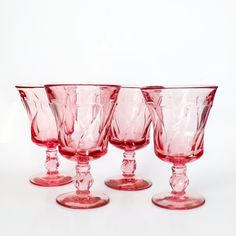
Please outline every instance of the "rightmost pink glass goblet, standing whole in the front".
[[204, 128], [217, 86], [142, 88], [153, 125], [156, 155], [173, 164], [171, 193], [153, 196], [167, 209], [191, 209], [204, 204], [199, 195], [185, 192], [189, 184], [186, 163], [203, 154]]

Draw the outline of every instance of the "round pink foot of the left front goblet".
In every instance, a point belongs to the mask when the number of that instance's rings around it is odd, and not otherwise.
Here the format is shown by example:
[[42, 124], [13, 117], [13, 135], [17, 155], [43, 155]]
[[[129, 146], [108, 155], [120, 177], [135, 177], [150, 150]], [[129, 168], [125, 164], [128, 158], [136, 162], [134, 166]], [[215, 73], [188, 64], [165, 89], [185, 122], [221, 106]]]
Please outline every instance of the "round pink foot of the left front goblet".
[[109, 197], [103, 193], [80, 195], [76, 192], [64, 193], [57, 197], [57, 203], [64, 207], [73, 209], [89, 209], [106, 205]]

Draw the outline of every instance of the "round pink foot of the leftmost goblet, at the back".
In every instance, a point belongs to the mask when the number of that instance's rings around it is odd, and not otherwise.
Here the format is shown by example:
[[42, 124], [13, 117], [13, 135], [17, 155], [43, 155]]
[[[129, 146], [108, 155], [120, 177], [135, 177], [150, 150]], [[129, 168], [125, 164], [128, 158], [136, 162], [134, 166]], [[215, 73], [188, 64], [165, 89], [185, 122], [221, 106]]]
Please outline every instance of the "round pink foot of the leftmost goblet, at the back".
[[71, 183], [72, 177], [61, 173], [56, 175], [39, 174], [30, 177], [30, 182], [42, 187], [55, 187]]

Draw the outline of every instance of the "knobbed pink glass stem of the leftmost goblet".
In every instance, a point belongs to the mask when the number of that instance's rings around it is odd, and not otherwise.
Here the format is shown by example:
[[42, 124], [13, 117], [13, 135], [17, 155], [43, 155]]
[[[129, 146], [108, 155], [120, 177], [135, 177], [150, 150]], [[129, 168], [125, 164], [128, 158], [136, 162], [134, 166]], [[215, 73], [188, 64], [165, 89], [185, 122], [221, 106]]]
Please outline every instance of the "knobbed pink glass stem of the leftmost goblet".
[[45, 168], [47, 169], [48, 175], [56, 175], [58, 174], [59, 161], [57, 157], [57, 149], [56, 148], [48, 148], [46, 150], [46, 162]]

